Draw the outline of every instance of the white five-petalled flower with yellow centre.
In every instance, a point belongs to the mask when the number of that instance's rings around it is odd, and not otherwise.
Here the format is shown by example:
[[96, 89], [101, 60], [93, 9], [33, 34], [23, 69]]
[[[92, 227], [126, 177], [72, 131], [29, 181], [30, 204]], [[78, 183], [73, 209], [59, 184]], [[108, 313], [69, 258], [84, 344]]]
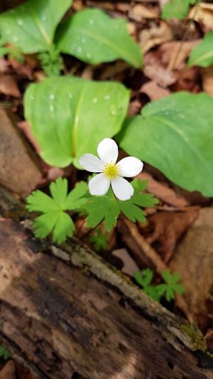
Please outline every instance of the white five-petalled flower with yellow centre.
[[133, 196], [133, 186], [123, 176], [130, 178], [138, 175], [143, 169], [143, 162], [133, 156], [121, 159], [116, 164], [119, 149], [113, 139], [104, 138], [97, 146], [99, 158], [93, 154], [80, 157], [80, 164], [85, 170], [99, 172], [89, 181], [91, 195], [102, 196], [107, 193], [109, 186], [119, 200], [129, 200]]

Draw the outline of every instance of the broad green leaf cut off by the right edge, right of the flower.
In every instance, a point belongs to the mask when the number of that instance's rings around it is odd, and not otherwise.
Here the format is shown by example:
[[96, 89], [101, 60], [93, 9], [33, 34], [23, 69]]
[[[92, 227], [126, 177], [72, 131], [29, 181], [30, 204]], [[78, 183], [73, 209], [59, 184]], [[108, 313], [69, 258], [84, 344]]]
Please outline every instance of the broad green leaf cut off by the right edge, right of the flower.
[[188, 191], [213, 196], [213, 99], [179, 92], [143, 107], [119, 139], [129, 155]]

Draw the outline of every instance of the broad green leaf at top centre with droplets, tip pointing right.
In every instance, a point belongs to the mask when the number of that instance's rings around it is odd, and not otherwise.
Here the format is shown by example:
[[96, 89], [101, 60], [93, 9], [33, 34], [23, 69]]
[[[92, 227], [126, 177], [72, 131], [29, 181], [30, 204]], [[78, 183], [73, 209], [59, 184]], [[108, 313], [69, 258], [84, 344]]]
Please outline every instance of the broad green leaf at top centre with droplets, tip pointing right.
[[100, 9], [77, 12], [57, 31], [58, 50], [87, 63], [111, 62], [118, 58], [141, 68], [141, 48], [129, 36], [126, 22], [113, 19]]

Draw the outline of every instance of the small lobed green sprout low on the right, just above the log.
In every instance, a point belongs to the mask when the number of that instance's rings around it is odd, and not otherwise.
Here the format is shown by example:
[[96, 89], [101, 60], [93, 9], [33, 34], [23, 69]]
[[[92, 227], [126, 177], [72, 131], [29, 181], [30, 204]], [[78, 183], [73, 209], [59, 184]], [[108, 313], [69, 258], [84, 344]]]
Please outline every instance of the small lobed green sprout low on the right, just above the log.
[[180, 276], [178, 272], [170, 274], [168, 269], [163, 271], [163, 279], [165, 283], [156, 286], [151, 284], [153, 280], [153, 271], [149, 268], [135, 272], [133, 277], [143, 291], [155, 301], [160, 301], [162, 297], [165, 297], [167, 301], [171, 301], [175, 299], [175, 293], [183, 294], [185, 292], [184, 285], [179, 283]]

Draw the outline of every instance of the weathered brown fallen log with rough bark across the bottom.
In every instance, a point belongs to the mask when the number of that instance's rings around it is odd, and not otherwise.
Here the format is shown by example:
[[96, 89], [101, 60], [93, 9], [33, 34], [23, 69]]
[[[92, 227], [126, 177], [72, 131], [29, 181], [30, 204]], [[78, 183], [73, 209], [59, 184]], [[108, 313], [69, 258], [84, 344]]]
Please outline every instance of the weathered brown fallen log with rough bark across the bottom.
[[36, 240], [3, 188], [0, 210], [0, 342], [35, 378], [213, 378], [195, 326], [80, 241]]

